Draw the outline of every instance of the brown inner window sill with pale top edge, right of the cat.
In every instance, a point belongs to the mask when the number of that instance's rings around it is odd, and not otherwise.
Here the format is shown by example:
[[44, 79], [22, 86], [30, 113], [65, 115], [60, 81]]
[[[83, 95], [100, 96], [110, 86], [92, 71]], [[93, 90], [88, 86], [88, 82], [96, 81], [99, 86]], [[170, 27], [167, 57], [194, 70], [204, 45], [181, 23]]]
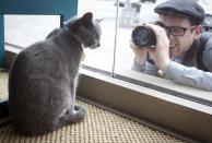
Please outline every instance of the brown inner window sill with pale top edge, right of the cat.
[[212, 142], [211, 106], [92, 71], [82, 69], [80, 73], [80, 96], [182, 140]]

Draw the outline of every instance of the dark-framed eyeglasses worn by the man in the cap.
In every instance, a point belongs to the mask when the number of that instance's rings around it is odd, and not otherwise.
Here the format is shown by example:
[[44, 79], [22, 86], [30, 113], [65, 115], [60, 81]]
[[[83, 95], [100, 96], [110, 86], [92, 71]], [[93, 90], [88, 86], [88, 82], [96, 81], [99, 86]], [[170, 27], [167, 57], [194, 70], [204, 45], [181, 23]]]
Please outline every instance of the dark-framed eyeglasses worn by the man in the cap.
[[190, 29], [192, 32], [196, 27], [197, 26], [191, 27], [165, 26], [164, 28], [166, 29], [166, 33], [168, 35], [172, 34], [173, 36], [184, 36], [186, 31]]

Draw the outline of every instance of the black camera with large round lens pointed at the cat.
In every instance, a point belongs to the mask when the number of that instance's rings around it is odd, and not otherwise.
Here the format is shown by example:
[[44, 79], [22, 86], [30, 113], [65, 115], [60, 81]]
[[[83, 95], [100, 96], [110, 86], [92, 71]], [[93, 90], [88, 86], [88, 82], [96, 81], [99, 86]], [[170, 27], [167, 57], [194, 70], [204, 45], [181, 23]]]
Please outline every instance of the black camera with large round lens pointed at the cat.
[[[155, 25], [165, 27], [162, 22], [155, 22]], [[136, 27], [131, 34], [132, 43], [138, 47], [155, 47], [156, 36], [154, 32], [146, 25]]]

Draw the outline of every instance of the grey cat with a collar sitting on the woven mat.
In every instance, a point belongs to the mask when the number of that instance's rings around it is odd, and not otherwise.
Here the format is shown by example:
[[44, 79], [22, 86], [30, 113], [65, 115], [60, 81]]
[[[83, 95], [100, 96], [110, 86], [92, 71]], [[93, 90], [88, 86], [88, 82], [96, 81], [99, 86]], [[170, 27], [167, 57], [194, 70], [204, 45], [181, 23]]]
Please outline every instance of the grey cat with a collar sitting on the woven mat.
[[83, 47], [99, 47], [99, 32], [87, 12], [17, 55], [9, 74], [9, 110], [19, 132], [39, 135], [83, 120], [85, 108], [74, 105], [79, 68]]

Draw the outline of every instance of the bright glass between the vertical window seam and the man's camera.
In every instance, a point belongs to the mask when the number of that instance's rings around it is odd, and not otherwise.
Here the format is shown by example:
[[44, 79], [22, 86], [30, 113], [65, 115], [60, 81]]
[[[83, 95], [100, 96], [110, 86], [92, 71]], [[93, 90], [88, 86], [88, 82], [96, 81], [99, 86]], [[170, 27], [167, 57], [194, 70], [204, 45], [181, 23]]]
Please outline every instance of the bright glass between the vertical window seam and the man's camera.
[[128, 2], [119, 9], [116, 72], [131, 69], [134, 53], [130, 48], [130, 43], [134, 26], [158, 20], [157, 14], [153, 12], [155, 3], [150, 1], [134, 2], [133, 0], [128, 0]]

